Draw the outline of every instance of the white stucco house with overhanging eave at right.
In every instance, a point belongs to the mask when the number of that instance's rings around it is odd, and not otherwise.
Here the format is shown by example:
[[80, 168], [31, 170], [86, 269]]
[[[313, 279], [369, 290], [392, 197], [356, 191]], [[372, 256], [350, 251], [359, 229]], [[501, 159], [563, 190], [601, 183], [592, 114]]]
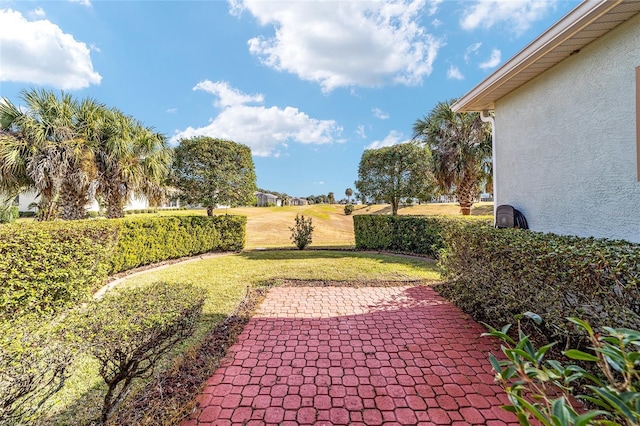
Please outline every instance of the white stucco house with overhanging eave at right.
[[639, 12], [580, 3], [452, 107], [493, 122], [495, 205], [533, 230], [640, 243]]

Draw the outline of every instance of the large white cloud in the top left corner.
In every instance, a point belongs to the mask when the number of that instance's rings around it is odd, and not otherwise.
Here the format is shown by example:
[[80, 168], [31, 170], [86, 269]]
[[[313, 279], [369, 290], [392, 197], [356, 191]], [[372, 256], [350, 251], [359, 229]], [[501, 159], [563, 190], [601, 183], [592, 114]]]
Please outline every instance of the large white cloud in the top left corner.
[[100, 84], [90, 50], [48, 20], [27, 21], [20, 12], [0, 10], [0, 81], [73, 90]]

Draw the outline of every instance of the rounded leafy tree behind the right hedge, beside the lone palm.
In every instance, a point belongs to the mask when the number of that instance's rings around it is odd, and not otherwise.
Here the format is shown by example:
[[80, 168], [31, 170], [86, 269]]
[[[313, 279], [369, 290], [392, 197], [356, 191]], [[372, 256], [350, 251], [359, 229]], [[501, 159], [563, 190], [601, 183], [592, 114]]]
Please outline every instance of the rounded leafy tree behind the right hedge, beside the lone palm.
[[365, 150], [356, 188], [361, 197], [391, 204], [398, 214], [400, 200], [424, 197], [433, 191], [429, 150], [413, 143]]

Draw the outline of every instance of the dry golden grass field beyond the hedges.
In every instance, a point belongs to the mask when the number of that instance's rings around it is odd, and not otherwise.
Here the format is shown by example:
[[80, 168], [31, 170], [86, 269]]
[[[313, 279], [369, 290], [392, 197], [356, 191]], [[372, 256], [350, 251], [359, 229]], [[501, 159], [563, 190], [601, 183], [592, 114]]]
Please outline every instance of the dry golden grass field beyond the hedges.
[[[391, 206], [376, 204], [355, 206], [353, 214], [390, 214]], [[294, 247], [291, 231], [296, 214], [313, 218], [313, 243], [311, 247], [354, 247], [353, 218], [344, 214], [340, 204], [313, 204], [290, 207], [240, 207], [214, 210], [215, 214], [237, 214], [247, 216], [247, 249], [258, 247]], [[177, 210], [161, 215], [205, 215], [205, 210]], [[460, 207], [455, 203], [422, 204], [402, 207], [400, 215], [459, 215]], [[492, 215], [493, 203], [474, 204], [473, 215]]]

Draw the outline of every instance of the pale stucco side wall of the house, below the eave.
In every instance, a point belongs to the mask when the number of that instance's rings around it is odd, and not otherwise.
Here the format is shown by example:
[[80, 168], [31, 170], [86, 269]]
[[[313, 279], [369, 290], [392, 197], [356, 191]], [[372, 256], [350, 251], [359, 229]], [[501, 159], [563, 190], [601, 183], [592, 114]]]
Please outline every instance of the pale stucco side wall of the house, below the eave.
[[640, 243], [638, 66], [640, 15], [498, 100], [496, 203], [536, 231]]

